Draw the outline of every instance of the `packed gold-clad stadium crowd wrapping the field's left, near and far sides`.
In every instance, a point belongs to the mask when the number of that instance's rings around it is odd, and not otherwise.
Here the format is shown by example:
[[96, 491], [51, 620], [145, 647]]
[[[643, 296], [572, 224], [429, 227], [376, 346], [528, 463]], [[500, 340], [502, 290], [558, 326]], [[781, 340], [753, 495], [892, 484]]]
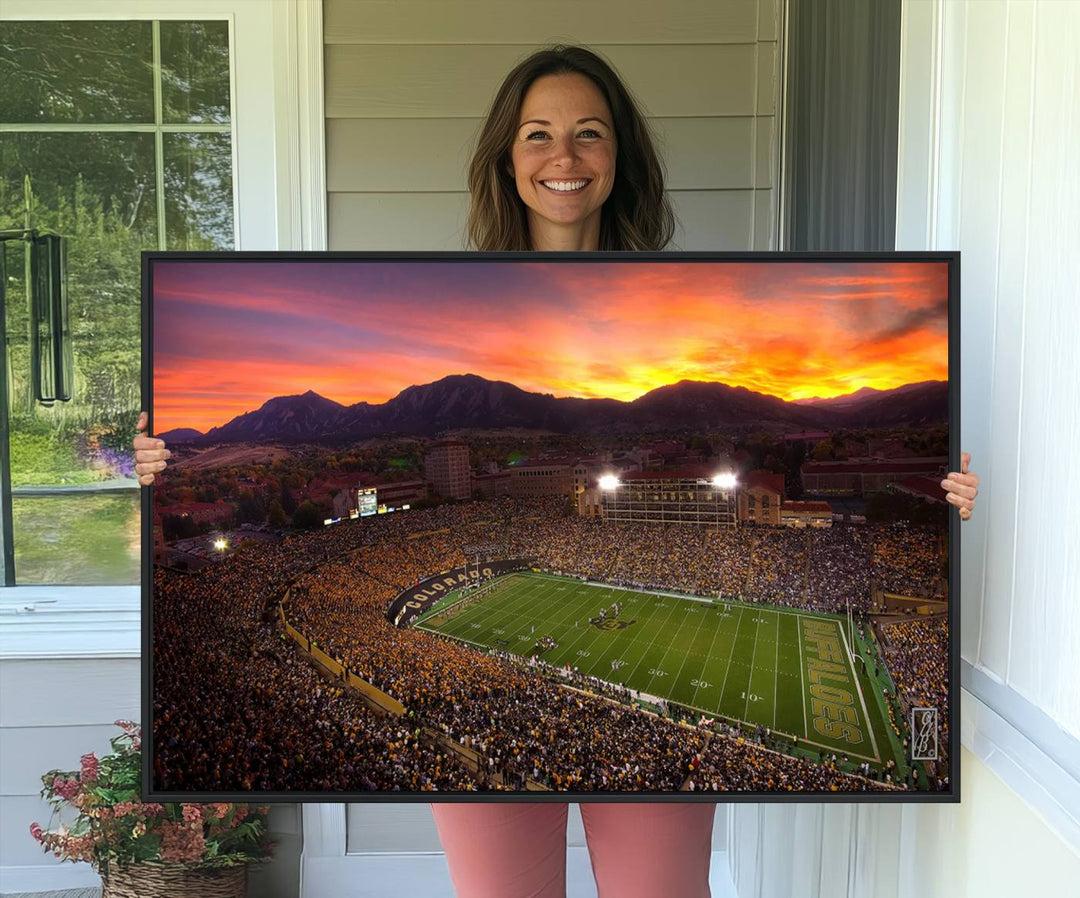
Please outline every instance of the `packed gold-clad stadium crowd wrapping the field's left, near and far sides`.
[[[158, 567], [156, 785], [362, 791], [521, 788], [532, 780], [589, 791], [861, 789], [860, 778], [733, 737], [706, 745], [696, 728], [591, 694], [589, 683], [562, 687], [543, 665], [523, 667], [397, 629], [386, 615], [402, 589], [464, 564], [462, 545], [485, 540], [500, 542], [507, 557], [534, 557], [575, 576], [836, 611], [836, 582], [870, 571], [872, 559], [875, 571], [879, 559], [888, 563], [902, 552], [894, 539], [927, 541], [892, 528], [611, 527], [563, 515], [558, 500], [500, 499], [349, 521], [194, 574]], [[935, 581], [936, 559], [928, 550], [927, 569], [910, 564], [904, 577]], [[860, 607], [868, 607], [869, 577], [859, 580]], [[321, 676], [282, 633], [279, 600], [313, 645], [400, 700], [407, 718], [368, 710]], [[426, 728], [478, 752], [486, 769], [472, 774], [423, 737]]]

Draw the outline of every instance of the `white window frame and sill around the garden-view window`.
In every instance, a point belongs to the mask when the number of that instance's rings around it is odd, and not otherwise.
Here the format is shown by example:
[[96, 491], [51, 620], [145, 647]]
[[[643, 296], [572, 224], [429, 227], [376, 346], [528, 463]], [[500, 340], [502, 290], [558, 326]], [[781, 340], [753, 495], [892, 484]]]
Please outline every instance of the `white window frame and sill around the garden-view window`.
[[[225, 19], [238, 250], [325, 250], [321, 0], [4, 0], [4, 21]], [[138, 586], [0, 589], [0, 658], [140, 654]]]

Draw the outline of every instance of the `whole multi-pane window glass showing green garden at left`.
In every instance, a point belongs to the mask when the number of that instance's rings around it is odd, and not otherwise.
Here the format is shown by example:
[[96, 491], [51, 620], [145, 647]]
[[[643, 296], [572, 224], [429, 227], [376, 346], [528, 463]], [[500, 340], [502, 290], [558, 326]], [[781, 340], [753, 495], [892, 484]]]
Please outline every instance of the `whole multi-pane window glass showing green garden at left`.
[[[227, 21], [6, 22], [0, 231], [17, 584], [136, 584], [141, 250], [234, 240]], [[19, 231], [67, 241], [70, 402], [30, 384]]]

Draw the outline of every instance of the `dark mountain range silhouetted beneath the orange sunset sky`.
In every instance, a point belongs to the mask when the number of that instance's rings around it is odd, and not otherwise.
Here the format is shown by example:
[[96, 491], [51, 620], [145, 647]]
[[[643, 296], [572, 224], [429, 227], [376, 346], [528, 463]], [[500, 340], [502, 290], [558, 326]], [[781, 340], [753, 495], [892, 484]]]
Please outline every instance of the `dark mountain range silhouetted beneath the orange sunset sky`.
[[948, 384], [928, 380], [893, 390], [785, 402], [726, 384], [681, 380], [632, 402], [530, 393], [502, 380], [455, 374], [408, 387], [381, 404], [341, 405], [308, 390], [275, 397], [205, 434], [160, 433], [179, 443], [328, 442], [383, 435], [434, 437], [448, 430], [522, 428], [557, 433], [835, 430], [945, 424]]

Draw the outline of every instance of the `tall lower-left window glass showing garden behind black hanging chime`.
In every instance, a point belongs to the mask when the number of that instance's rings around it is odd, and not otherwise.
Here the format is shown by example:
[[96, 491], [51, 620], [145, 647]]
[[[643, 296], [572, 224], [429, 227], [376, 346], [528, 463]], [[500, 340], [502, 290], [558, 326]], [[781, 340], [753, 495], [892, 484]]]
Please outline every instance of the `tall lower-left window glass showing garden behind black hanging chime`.
[[[75, 393], [33, 400], [24, 244], [4, 244], [12, 484], [134, 483], [139, 252], [157, 246], [152, 134], [0, 135], [0, 228], [68, 241]], [[26, 179], [30, 196], [27, 200]], [[13, 499], [19, 584], [138, 580], [138, 491]]]

